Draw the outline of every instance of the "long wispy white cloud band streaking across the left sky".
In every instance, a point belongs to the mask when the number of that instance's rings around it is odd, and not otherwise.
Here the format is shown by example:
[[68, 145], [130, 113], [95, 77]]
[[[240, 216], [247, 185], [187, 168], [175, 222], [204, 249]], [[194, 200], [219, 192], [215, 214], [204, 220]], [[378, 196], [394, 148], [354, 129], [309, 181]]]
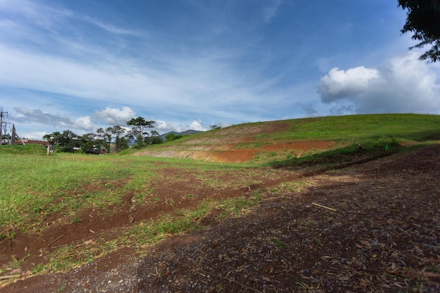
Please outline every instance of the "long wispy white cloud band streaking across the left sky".
[[[198, 98], [245, 91], [243, 85], [219, 72], [220, 60], [169, 60], [168, 70], [139, 68], [128, 60], [107, 64], [86, 64], [51, 56], [27, 54], [0, 45], [0, 86], [60, 93], [86, 99], [127, 100], [142, 105], [177, 106], [195, 109]], [[201, 63], [200, 63], [201, 62]], [[239, 87], [239, 89], [237, 89]], [[241, 88], [240, 88], [241, 87]], [[225, 95], [228, 96], [228, 95]], [[243, 97], [243, 96], [242, 96]], [[222, 99], [221, 103], [233, 103]], [[204, 100], [207, 103], [219, 103]]]

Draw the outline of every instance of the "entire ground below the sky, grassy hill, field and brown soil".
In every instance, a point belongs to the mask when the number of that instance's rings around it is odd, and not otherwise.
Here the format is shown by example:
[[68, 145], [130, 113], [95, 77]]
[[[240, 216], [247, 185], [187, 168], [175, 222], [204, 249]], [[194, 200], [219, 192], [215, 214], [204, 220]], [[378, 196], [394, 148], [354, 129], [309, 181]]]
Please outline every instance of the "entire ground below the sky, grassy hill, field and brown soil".
[[440, 292], [439, 134], [439, 116], [361, 115], [134, 156], [5, 152], [0, 292]]

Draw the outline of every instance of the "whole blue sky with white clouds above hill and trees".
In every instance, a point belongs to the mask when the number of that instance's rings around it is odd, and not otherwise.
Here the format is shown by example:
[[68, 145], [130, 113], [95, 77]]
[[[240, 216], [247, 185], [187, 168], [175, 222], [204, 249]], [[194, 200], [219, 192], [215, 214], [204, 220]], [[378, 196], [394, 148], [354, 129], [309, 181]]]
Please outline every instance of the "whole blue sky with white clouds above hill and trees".
[[27, 138], [440, 114], [405, 20], [389, 0], [0, 0], [0, 107]]

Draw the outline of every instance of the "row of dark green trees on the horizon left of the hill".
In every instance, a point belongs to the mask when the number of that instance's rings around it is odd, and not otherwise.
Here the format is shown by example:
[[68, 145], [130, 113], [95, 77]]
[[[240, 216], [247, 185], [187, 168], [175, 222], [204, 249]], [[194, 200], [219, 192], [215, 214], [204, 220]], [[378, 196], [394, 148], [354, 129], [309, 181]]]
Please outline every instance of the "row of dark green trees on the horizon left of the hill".
[[[163, 143], [164, 140], [160, 134], [148, 129], [154, 128], [154, 121], [145, 120], [143, 117], [132, 118], [127, 121], [127, 125], [131, 129], [127, 131], [120, 125], [110, 126], [106, 129], [98, 128], [95, 132], [83, 134], [78, 136], [70, 130], [63, 132], [55, 131], [51, 134], [46, 134], [43, 139], [55, 145], [56, 150], [61, 152], [80, 152], [99, 153], [103, 150], [110, 152], [110, 144], [114, 139], [115, 151], [120, 152], [133, 145], [134, 148], [143, 148], [146, 145], [154, 145]], [[167, 136], [166, 136], [167, 138]], [[175, 136], [170, 136], [169, 139], [176, 139]]]

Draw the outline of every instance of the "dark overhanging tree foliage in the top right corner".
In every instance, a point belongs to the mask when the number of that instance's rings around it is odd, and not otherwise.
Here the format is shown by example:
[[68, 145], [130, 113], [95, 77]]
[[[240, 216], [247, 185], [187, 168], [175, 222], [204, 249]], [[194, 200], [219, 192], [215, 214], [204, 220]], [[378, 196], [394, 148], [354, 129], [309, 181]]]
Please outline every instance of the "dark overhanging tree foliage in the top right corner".
[[432, 47], [420, 56], [419, 60], [436, 62], [440, 58], [440, 2], [439, 0], [399, 0], [399, 6], [408, 9], [406, 23], [401, 33], [412, 32], [411, 39], [420, 41], [410, 47], [422, 48], [432, 44]]

